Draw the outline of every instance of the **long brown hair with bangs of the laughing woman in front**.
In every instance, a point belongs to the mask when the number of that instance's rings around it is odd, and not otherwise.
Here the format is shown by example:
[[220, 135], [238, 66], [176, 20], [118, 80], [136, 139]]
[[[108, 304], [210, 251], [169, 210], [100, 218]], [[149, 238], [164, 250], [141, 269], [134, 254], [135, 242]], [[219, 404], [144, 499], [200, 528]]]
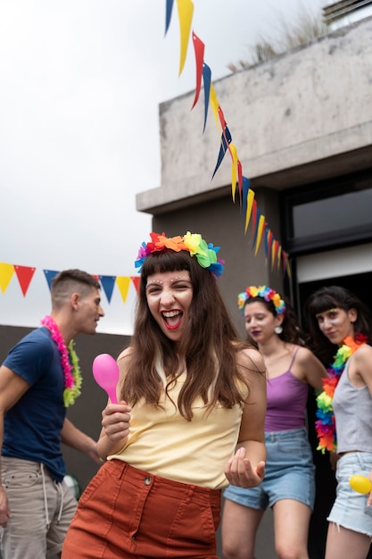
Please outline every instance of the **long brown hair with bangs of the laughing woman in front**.
[[[177, 346], [154, 320], [145, 293], [147, 277], [166, 271], [188, 271], [193, 286], [185, 336]], [[154, 252], [147, 256], [141, 271], [134, 334], [126, 363], [128, 372], [121, 397], [130, 405], [140, 399], [159, 405], [162, 390], [165, 388], [167, 392], [177, 379], [183, 359], [187, 374], [178, 396], [178, 409], [187, 421], [193, 417], [192, 405], [198, 396], [208, 409], [217, 403], [226, 408], [243, 405], [246, 394], [242, 394], [239, 381], [246, 382], [236, 364], [236, 356], [239, 349], [247, 346], [239, 342], [210, 271], [203, 269], [186, 251], [165, 248]], [[165, 373], [166, 387], [161, 382], [160, 369]]]

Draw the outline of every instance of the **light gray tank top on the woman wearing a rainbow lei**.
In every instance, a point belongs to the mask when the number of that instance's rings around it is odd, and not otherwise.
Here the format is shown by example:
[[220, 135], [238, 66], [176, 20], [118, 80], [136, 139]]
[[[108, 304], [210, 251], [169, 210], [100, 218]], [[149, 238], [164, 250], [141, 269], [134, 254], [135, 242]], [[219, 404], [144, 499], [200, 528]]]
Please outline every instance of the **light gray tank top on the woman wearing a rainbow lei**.
[[352, 356], [346, 363], [335, 388], [333, 408], [337, 452], [359, 450], [372, 452], [372, 398], [367, 387], [355, 388], [349, 380], [348, 369]]

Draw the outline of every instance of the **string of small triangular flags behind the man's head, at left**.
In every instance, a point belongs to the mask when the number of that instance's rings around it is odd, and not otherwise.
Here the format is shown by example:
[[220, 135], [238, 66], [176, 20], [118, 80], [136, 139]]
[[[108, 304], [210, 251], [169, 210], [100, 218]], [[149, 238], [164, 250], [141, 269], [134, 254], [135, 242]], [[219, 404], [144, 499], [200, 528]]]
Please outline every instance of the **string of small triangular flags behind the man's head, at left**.
[[[18, 264], [0, 263], [1, 292], [4, 294], [13, 278], [15, 278], [16, 280], [18, 280], [22, 295], [25, 297], [29, 290], [30, 283], [34, 278], [36, 270], [37, 269], [33, 268], [32, 266], [19, 266]], [[54, 279], [54, 276], [59, 273], [59, 271], [43, 270], [43, 272], [45, 275], [47, 287], [50, 291], [52, 287], [52, 280]], [[138, 291], [139, 276], [104, 276], [97, 274], [92, 274], [92, 276], [100, 283], [103, 289], [103, 293], [107, 297], [107, 301], [109, 303], [112, 300], [112, 294], [115, 287], [119, 289], [123, 303], [125, 303], [127, 300], [130, 285], [133, 285], [136, 288], [136, 292]]]

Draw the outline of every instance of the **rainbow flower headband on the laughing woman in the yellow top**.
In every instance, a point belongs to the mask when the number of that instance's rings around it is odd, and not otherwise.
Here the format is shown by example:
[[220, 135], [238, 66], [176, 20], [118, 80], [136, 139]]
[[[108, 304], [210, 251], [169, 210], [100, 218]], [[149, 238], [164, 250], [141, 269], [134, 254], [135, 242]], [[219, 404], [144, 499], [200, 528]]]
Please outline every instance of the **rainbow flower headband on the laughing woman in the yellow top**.
[[135, 266], [140, 272], [149, 254], [170, 248], [175, 252], [186, 250], [191, 256], [196, 256], [196, 260], [202, 268], [210, 271], [215, 277], [222, 275], [224, 269], [224, 260], [217, 258], [219, 246], [213, 246], [212, 243], [206, 243], [199, 233], [190, 233], [187, 231], [184, 237], [165, 237], [165, 233], [150, 233], [153, 242], [142, 243], [139, 247], [136, 257]]

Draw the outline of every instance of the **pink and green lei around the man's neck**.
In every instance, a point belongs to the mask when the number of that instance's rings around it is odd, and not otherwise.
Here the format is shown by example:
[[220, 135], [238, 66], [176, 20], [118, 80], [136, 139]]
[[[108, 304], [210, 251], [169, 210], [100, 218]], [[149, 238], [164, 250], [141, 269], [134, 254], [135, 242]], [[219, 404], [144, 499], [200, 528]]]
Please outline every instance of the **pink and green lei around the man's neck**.
[[80, 387], [82, 383], [79, 357], [73, 347], [73, 339], [71, 339], [67, 347], [62, 338], [62, 334], [57, 324], [51, 316], [46, 315], [41, 321], [42, 325], [50, 330], [52, 339], [54, 340], [58, 351], [61, 355], [61, 364], [64, 375], [63, 403], [66, 407], [74, 404], [76, 398], [81, 394]]

